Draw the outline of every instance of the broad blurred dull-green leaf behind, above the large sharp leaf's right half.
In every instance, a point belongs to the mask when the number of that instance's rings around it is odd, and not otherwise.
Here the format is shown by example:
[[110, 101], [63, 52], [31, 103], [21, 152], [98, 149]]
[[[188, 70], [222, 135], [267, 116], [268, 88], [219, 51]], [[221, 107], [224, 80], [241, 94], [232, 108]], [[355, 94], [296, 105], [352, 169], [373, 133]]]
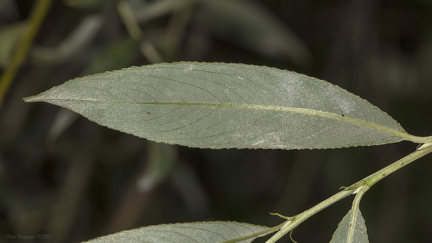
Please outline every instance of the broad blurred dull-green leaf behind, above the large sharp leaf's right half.
[[280, 19], [254, 1], [203, 0], [195, 22], [211, 35], [273, 59], [306, 64], [308, 48]]

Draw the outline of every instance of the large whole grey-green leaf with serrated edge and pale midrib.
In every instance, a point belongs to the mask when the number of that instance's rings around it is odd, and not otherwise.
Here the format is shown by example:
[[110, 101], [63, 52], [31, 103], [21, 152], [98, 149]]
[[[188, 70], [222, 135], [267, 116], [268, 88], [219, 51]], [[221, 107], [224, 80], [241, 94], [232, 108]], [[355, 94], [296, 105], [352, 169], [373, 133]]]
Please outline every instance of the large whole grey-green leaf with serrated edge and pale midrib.
[[245, 64], [161, 63], [76, 78], [25, 101], [201, 148], [338, 148], [402, 140], [385, 112], [329, 82]]

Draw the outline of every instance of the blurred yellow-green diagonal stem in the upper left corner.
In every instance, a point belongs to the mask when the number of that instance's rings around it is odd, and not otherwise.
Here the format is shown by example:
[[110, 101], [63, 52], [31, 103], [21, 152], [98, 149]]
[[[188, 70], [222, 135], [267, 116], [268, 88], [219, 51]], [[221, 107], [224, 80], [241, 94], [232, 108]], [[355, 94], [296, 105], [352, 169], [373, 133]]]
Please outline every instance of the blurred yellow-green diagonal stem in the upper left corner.
[[35, 36], [41, 26], [41, 23], [45, 19], [45, 16], [50, 8], [52, 0], [39, 0], [36, 6], [33, 8], [32, 14], [30, 16], [30, 23], [27, 27], [24, 37], [18, 45], [15, 55], [11, 60], [9, 66], [6, 68], [4, 73], [0, 78], [0, 107], [3, 104], [4, 97], [8, 91], [13, 79], [18, 72], [26, 54], [29, 51], [30, 44], [32, 44]]

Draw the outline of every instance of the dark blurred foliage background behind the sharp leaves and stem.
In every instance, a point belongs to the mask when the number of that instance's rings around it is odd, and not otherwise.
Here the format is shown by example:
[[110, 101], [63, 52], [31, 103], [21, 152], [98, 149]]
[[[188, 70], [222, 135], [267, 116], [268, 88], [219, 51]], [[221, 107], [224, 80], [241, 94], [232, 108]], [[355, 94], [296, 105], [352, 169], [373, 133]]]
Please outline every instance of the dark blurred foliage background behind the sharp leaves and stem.
[[[1, 70], [33, 5], [0, 0]], [[40, 242], [76, 243], [206, 220], [275, 226], [283, 219], [268, 212], [299, 214], [416, 149], [412, 142], [187, 148], [22, 101], [78, 76], [180, 60], [304, 73], [365, 98], [410, 134], [432, 135], [432, 1], [54, 1], [0, 107], [0, 242], [33, 242], [6, 234], [49, 234]], [[371, 242], [430, 241], [431, 173], [429, 155], [365, 194], [360, 208]], [[352, 200], [309, 218], [293, 239], [329, 242]]]

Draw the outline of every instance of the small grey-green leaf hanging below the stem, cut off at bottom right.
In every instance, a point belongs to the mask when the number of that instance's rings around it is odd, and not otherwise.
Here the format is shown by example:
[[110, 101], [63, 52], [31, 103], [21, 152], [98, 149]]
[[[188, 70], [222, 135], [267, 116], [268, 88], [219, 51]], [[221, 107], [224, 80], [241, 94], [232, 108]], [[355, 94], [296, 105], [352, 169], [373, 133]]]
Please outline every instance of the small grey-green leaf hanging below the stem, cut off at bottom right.
[[339, 223], [336, 232], [333, 234], [333, 238], [330, 243], [369, 243], [368, 234], [366, 232], [365, 219], [362, 216], [360, 210], [357, 210], [356, 224], [354, 226], [353, 240], [347, 242], [349, 221], [351, 221], [351, 211], [343, 217]]

